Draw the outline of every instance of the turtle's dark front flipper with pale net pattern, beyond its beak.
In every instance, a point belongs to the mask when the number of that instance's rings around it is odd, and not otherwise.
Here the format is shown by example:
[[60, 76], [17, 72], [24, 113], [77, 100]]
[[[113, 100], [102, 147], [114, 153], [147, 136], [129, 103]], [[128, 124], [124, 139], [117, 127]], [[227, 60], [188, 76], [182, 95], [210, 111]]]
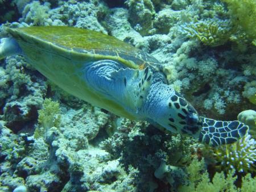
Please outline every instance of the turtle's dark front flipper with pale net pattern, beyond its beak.
[[234, 143], [249, 130], [248, 126], [238, 120], [224, 122], [204, 117], [200, 118], [203, 122], [203, 127], [200, 132], [199, 141], [213, 147]]

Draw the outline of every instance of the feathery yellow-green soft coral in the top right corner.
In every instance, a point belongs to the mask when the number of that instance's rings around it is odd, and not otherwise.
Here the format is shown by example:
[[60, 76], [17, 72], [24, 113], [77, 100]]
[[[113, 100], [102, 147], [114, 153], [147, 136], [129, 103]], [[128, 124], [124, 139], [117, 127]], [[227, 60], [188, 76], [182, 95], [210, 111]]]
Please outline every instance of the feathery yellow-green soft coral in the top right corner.
[[232, 24], [236, 28], [235, 40], [256, 40], [256, 1], [255, 0], [222, 0], [228, 4]]

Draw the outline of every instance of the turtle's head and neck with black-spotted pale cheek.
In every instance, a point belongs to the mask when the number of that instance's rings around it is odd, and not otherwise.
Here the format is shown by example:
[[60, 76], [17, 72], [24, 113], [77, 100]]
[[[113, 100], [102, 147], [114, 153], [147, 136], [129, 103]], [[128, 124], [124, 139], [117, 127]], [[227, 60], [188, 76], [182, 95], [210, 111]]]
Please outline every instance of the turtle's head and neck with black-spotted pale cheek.
[[198, 138], [203, 122], [195, 108], [170, 85], [159, 82], [151, 90], [148, 116], [168, 131]]

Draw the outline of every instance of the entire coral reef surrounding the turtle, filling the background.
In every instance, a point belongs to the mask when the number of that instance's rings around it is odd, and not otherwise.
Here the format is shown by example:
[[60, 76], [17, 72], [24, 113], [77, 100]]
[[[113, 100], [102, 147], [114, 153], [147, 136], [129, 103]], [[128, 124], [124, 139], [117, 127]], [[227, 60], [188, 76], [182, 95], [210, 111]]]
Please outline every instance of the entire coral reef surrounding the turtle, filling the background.
[[0, 191], [255, 191], [255, 1], [0, 5], [0, 37], [5, 27], [26, 26], [115, 36], [162, 62], [168, 83], [200, 115], [234, 120], [243, 111], [238, 119], [251, 134], [202, 147], [74, 98], [11, 56], [0, 61]]

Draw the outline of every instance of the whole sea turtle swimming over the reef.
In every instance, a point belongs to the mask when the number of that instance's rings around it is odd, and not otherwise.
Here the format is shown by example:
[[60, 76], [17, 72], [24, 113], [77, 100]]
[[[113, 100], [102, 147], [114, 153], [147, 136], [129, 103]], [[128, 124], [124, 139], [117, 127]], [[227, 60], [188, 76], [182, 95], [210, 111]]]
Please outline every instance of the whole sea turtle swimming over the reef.
[[20, 54], [56, 85], [116, 115], [147, 120], [212, 146], [230, 144], [248, 127], [204, 118], [167, 84], [151, 55], [115, 37], [74, 27], [7, 28], [0, 59]]

